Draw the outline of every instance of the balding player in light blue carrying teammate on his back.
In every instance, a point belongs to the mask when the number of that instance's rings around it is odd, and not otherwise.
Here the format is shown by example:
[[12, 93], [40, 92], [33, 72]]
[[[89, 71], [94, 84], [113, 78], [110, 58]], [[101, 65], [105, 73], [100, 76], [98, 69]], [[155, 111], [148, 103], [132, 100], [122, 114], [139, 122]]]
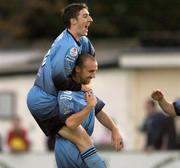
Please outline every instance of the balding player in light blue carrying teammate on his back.
[[[77, 59], [72, 78], [77, 83], [89, 84], [91, 79], [95, 77], [97, 68], [97, 62], [93, 56], [89, 54], [80, 55]], [[86, 97], [86, 100], [84, 97]], [[72, 132], [78, 126], [82, 125], [91, 136], [96, 116], [101, 124], [112, 132], [112, 143], [116, 150], [119, 151], [122, 149], [123, 142], [118, 127], [102, 110], [103, 106], [96, 106], [96, 97], [92, 90], [88, 92], [60, 91], [58, 102], [61, 119], [63, 119], [66, 126], [70, 128]], [[56, 140], [55, 155], [58, 168], [105, 167], [105, 165], [102, 164], [102, 160], [96, 154], [94, 147], [90, 147], [85, 152], [80, 153], [73, 143], [64, 138], [58, 138]]]

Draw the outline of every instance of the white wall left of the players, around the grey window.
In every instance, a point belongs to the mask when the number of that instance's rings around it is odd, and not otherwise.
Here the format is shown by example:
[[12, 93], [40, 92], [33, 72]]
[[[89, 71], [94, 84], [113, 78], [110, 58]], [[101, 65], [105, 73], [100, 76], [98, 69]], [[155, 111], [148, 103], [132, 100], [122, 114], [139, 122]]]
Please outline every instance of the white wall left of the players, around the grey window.
[[[32, 118], [26, 106], [26, 95], [34, 82], [34, 75], [13, 76], [0, 78], [0, 91], [12, 91], [17, 97], [17, 114], [22, 118], [23, 125], [29, 130], [29, 137], [32, 141], [32, 150], [43, 151], [45, 136]], [[6, 132], [11, 126], [9, 120], [0, 119], [0, 134], [5, 141]], [[5, 150], [7, 148], [4, 148]]]

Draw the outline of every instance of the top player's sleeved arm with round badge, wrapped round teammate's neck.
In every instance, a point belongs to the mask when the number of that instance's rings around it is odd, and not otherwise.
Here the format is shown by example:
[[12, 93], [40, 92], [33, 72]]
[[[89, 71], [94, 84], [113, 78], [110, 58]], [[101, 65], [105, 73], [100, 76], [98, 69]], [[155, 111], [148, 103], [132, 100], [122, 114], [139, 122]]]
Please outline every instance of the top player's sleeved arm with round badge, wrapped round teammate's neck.
[[73, 46], [59, 46], [52, 58], [52, 79], [57, 90], [88, 91], [85, 85], [77, 83], [71, 77], [78, 49]]

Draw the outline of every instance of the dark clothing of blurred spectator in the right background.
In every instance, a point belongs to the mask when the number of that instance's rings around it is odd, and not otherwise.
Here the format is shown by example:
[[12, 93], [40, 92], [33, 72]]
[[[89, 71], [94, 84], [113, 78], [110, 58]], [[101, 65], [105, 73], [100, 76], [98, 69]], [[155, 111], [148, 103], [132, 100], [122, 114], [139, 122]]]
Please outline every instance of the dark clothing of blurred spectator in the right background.
[[146, 133], [146, 147], [152, 146], [155, 150], [162, 149], [166, 141], [166, 149], [175, 146], [175, 126], [173, 118], [162, 112], [153, 112], [144, 121], [142, 131]]

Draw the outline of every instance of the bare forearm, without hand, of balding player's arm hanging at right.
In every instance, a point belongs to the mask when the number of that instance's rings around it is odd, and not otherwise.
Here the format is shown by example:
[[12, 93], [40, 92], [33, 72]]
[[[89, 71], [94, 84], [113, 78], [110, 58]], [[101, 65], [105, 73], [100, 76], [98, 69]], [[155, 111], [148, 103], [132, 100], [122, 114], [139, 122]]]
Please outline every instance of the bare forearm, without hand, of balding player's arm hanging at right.
[[98, 121], [107, 129], [109, 129], [110, 131], [112, 131], [113, 129], [117, 129], [116, 124], [114, 123], [114, 121], [111, 119], [111, 117], [105, 113], [104, 111], [100, 111], [97, 115], [96, 115]]

